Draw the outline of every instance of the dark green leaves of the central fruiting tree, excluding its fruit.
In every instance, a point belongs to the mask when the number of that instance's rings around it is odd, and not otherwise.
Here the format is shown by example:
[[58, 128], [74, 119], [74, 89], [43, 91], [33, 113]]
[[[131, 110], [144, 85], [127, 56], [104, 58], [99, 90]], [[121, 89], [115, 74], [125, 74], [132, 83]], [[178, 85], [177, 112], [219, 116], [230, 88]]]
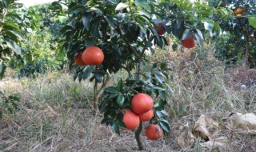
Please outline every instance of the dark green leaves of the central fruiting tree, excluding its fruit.
[[[146, 50], [154, 53], [154, 46], [167, 44], [164, 35], [158, 35], [156, 22], [163, 22], [168, 34], [179, 39], [194, 35], [202, 46], [202, 31], [222, 33], [214, 14], [226, 17], [226, 9], [214, 8], [205, 4], [190, 4], [190, 1], [59, 1], [53, 2], [50, 9], [62, 11], [60, 3], [68, 6], [68, 18], [62, 28], [63, 39], [59, 42], [58, 54], [67, 54], [70, 68], [76, 67], [74, 80], [90, 78], [90, 81], [103, 82], [108, 74], [126, 70], [129, 77], [120, 80], [118, 86], [106, 88], [102, 94], [100, 110], [105, 118], [102, 123], [113, 126], [115, 132], [123, 127], [122, 109], [130, 106], [130, 99], [136, 92], [154, 95], [155, 120], [166, 131], [169, 123], [164, 119], [164, 105], [167, 101], [167, 90], [170, 86], [162, 80], [167, 75], [160, 72], [166, 65], [154, 64], [153, 71], [143, 73], [140, 67], [149, 63]], [[74, 56], [88, 46], [98, 46], [104, 53], [104, 61], [99, 66], [75, 66]], [[132, 71], [134, 71], [132, 74]], [[153, 121], [152, 120], [152, 121]]]

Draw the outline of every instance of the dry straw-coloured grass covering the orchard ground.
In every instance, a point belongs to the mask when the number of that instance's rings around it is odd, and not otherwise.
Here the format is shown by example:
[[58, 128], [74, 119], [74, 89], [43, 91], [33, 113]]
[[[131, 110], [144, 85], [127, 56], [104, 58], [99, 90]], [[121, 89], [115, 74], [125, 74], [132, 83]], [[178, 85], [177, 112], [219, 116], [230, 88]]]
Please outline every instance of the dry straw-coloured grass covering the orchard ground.
[[[164, 55], [164, 58], [163, 58]], [[160, 57], [161, 58], [158, 58]], [[240, 89], [228, 85], [232, 74], [212, 55], [159, 51], [155, 60], [163, 60], [173, 69], [170, 85], [174, 97], [166, 110], [170, 113], [171, 134], [165, 140], [149, 141], [144, 135], [146, 151], [198, 151], [182, 149], [176, 138], [183, 126], [193, 128], [201, 114], [218, 122], [230, 112], [243, 114], [256, 111], [255, 86]], [[118, 74], [121, 78], [123, 72]], [[112, 79], [113, 83], [118, 78]], [[236, 84], [240, 85], [240, 84]], [[100, 125], [101, 114], [92, 114], [92, 84], [74, 82], [70, 74], [50, 73], [31, 80], [7, 75], [0, 90], [22, 95], [21, 110], [7, 115], [0, 122], [0, 151], [136, 151], [131, 131], [114, 134], [108, 126]], [[146, 124], [144, 124], [144, 134]], [[252, 135], [234, 134], [230, 138], [233, 151], [252, 151], [256, 139]], [[238, 138], [238, 140], [234, 140]], [[226, 149], [226, 151], [232, 151]], [[200, 151], [200, 150], [199, 150]]]

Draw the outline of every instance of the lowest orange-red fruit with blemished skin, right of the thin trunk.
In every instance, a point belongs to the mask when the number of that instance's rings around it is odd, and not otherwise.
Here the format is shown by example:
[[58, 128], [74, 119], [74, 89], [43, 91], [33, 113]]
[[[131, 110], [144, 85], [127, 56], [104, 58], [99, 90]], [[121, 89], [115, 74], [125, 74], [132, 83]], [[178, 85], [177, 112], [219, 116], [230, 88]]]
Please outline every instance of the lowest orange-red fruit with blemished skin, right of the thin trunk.
[[162, 138], [162, 130], [159, 130], [158, 125], [150, 124], [146, 128], [146, 137], [150, 140], [158, 140]]

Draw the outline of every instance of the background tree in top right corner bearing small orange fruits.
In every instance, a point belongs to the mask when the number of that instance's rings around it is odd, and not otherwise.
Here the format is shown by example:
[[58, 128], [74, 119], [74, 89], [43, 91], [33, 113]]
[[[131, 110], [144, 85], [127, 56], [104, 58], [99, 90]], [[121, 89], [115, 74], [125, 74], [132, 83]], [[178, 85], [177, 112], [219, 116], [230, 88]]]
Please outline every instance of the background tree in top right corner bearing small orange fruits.
[[230, 11], [230, 18], [223, 18], [220, 26], [226, 31], [217, 45], [217, 57], [232, 62], [243, 60], [245, 66], [256, 66], [254, 31], [256, 28], [256, 2], [253, 0], [226, 0], [211, 2]]

